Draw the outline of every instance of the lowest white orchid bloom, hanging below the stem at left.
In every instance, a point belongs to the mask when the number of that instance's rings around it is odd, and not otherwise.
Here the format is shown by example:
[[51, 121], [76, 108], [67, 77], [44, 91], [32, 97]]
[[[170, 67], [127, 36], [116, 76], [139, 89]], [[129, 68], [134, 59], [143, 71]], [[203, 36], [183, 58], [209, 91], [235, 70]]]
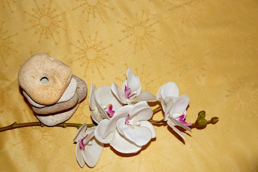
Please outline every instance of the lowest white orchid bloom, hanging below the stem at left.
[[94, 138], [94, 131], [96, 127], [87, 129], [87, 124], [83, 124], [74, 138], [76, 142], [76, 159], [81, 166], [84, 167], [85, 163], [89, 167], [94, 167], [103, 150], [103, 143], [99, 143]]

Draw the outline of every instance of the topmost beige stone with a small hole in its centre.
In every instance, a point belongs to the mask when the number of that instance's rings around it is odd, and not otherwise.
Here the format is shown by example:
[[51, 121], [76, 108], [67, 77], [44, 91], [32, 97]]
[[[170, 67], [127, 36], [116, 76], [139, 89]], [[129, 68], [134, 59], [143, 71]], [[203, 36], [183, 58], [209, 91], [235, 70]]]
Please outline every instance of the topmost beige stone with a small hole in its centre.
[[63, 62], [39, 53], [30, 57], [18, 74], [19, 85], [38, 104], [55, 104], [72, 79], [71, 69]]

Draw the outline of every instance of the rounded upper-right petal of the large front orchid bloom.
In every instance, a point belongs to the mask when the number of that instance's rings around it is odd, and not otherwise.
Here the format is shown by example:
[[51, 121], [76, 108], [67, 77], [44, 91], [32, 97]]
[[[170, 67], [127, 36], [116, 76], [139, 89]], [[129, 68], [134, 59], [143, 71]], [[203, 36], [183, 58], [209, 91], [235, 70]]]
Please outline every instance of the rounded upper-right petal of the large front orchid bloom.
[[149, 120], [153, 111], [145, 101], [138, 102], [130, 111], [131, 119], [134, 121]]

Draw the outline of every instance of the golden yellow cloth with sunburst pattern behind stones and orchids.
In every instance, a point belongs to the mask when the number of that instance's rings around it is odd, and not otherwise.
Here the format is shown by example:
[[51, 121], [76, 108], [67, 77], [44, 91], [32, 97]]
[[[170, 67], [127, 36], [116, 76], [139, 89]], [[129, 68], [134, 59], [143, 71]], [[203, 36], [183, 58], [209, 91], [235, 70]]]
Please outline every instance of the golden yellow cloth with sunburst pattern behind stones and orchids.
[[[0, 172], [257, 172], [257, 16], [257, 0], [1, 0], [0, 127], [37, 121], [17, 76], [40, 52], [69, 65], [88, 93], [91, 84], [121, 86], [128, 67], [154, 95], [175, 82], [190, 97], [187, 122], [201, 110], [219, 122], [184, 133], [185, 142], [155, 126], [140, 153], [105, 146], [83, 170], [76, 128], [9, 130], [0, 133]], [[92, 123], [88, 96], [67, 122]]]

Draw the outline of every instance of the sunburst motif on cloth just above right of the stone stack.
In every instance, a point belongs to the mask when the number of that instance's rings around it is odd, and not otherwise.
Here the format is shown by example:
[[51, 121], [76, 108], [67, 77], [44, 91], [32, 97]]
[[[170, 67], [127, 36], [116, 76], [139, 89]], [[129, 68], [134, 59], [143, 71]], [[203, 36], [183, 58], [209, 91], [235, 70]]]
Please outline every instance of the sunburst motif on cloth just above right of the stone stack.
[[70, 43], [70, 45], [76, 48], [75, 55], [78, 58], [73, 59], [70, 62], [74, 63], [79, 61], [80, 66], [84, 66], [86, 69], [85, 77], [87, 70], [90, 70], [92, 74], [97, 71], [101, 76], [101, 79], [104, 80], [105, 78], [103, 77], [100, 68], [106, 68], [106, 64], [114, 65], [114, 63], [106, 59], [109, 55], [106, 53], [106, 49], [113, 45], [109, 44], [108, 46], [103, 46], [102, 41], [97, 41], [98, 32], [95, 32], [93, 38], [91, 35], [86, 38], [81, 30], [79, 32], [82, 40], [77, 40], [77, 44]]

